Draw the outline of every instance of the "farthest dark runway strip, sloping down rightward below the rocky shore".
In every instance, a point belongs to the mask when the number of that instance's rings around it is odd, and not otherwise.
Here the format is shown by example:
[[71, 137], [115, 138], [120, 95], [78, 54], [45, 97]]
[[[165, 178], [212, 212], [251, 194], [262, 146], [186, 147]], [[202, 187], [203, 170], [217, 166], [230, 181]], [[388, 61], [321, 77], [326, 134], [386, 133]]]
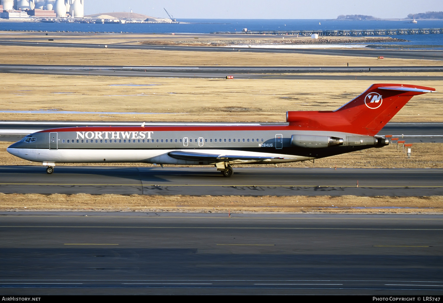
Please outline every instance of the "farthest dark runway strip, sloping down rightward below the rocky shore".
[[[4, 37], [3, 37], [4, 38]], [[24, 38], [24, 37], [23, 37]], [[46, 37], [47, 39], [48, 37]], [[46, 40], [44, 39], [44, 40]], [[193, 47], [193, 46], [163, 46], [141, 44], [97, 44], [97, 43], [59, 43], [0, 40], [0, 45], [32, 46], [32, 47], [80, 47], [80, 48], [106, 48], [107, 49], [138, 49], [159, 51], [216, 51], [216, 52], [250, 52], [250, 53], [296, 53], [296, 54], [323, 54], [338, 56], [443, 60], [443, 51], [435, 50], [379, 50], [379, 49], [275, 49], [275, 48], [238, 48], [238, 47]]]

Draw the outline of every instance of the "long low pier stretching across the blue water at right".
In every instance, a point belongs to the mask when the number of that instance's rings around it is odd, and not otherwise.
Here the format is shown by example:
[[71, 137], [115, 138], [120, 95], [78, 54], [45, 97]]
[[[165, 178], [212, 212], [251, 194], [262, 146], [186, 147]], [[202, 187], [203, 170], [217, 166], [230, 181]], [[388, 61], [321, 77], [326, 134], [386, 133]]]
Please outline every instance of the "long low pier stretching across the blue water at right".
[[383, 35], [420, 35], [443, 34], [443, 28], [401, 28], [377, 30], [328, 30], [328, 31], [216, 31], [212, 34], [249, 34], [249, 35], [297, 35], [310, 37], [313, 34], [326, 37], [383, 36]]

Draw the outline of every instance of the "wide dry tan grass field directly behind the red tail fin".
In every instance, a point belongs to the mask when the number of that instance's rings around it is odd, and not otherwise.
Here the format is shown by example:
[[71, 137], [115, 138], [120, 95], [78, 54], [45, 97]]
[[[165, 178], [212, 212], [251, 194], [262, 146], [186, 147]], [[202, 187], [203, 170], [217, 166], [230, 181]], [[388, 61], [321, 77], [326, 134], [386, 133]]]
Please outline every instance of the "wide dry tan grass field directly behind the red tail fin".
[[[2, 74], [3, 120], [285, 121], [287, 110], [334, 110], [373, 81], [196, 79]], [[414, 74], [410, 74], [413, 79]], [[403, 81], [443, 91], [441, 81]], [[142, 85], [142, 86], [132, 86]], [[443, 121], [441, 93], [413, 97], [392, 121]], [[146, 114], [62, 114], [136, 112]]]

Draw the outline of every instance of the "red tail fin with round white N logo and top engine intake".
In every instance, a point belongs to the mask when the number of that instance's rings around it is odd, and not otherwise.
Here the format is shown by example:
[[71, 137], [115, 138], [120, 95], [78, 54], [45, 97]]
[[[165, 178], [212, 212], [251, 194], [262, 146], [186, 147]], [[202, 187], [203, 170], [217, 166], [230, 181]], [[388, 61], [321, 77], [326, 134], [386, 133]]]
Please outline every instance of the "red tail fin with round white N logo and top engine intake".
[[408, 84], [373, 84], [360, 96], [334, 111], [288, 112], [290, 125], [311, 130], [376, 135], [416, 95], [431, 87]]

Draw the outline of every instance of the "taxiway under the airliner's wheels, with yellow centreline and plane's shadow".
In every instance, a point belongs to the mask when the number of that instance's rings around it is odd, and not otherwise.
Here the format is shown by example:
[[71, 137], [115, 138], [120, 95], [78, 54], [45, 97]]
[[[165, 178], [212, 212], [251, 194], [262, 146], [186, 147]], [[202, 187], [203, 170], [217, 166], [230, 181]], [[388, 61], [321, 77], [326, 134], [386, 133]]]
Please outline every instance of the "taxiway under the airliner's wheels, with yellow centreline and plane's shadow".
[[214, 167], [0, 166], [5, 194], [144, 195], [443, 195], [439, 168], [234, 167], [224, 178]]

